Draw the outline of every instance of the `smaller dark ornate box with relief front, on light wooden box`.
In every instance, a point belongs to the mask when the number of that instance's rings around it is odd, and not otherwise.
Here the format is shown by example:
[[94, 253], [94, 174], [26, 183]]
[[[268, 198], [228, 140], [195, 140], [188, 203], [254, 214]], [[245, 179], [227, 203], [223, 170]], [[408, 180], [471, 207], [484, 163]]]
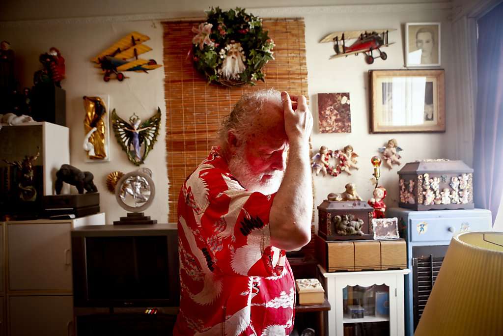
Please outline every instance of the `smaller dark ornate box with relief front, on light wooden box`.
[[325, 240], [373, 239], [374, 208], [364, 201], [328, 201], [318, 206], [318, 235]]

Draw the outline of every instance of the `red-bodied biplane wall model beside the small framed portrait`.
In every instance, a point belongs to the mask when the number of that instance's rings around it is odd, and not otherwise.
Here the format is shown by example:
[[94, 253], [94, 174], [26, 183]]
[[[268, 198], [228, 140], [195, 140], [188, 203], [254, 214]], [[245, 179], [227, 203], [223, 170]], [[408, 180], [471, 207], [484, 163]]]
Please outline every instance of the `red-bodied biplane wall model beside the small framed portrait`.
[[[381, 51], [381, 47], [387, 47], [394, 42], [388, 42], [388, 32], [396, 29], [376, 29], [372, 31], [366, 30], [355, 30], [347, 32], [334, 32], [328, 34], [319, 41], [320, 43], [333, 42], [333, 50], [336, 52], [335, 55], [330, 56], [330, 59], [342, 56], [348, 56], [351, 54], [358, 55], [360, 52], [365, 54], [365, 61], [368, 64], [374, 63], [374, 58], [380, 57], [383, 60], [388, 58], [388, 55], [384, 51]], [[346, 40], [356, 39], [353, 44], [346, 46]], [[373, 51], [379, 51], [379, 55], [375, 56]]]

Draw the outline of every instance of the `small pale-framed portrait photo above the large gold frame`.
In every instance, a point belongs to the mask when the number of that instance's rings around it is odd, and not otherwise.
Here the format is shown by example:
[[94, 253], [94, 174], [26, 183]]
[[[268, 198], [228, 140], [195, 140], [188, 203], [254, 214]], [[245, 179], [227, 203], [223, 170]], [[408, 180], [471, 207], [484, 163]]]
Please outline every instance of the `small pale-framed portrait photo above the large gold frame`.
[[440, 22], [405, 24], [405, 66], [440, 66]]

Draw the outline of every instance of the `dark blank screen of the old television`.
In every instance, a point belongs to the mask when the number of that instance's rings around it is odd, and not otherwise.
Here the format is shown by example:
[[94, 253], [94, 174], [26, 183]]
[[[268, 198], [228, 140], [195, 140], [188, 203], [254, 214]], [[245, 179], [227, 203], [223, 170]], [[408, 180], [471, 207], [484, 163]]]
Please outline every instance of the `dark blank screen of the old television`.
[[86, 237], [88, 298], [170, 298], [165, 236]]

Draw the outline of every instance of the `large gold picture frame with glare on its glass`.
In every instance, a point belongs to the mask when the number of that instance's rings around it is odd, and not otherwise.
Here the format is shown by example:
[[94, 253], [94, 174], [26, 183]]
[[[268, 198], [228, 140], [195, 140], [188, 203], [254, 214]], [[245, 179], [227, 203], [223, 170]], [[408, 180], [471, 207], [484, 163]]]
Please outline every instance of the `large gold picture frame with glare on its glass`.
[[370, 70], [370, 132], [445, 132], [445, 72]]

